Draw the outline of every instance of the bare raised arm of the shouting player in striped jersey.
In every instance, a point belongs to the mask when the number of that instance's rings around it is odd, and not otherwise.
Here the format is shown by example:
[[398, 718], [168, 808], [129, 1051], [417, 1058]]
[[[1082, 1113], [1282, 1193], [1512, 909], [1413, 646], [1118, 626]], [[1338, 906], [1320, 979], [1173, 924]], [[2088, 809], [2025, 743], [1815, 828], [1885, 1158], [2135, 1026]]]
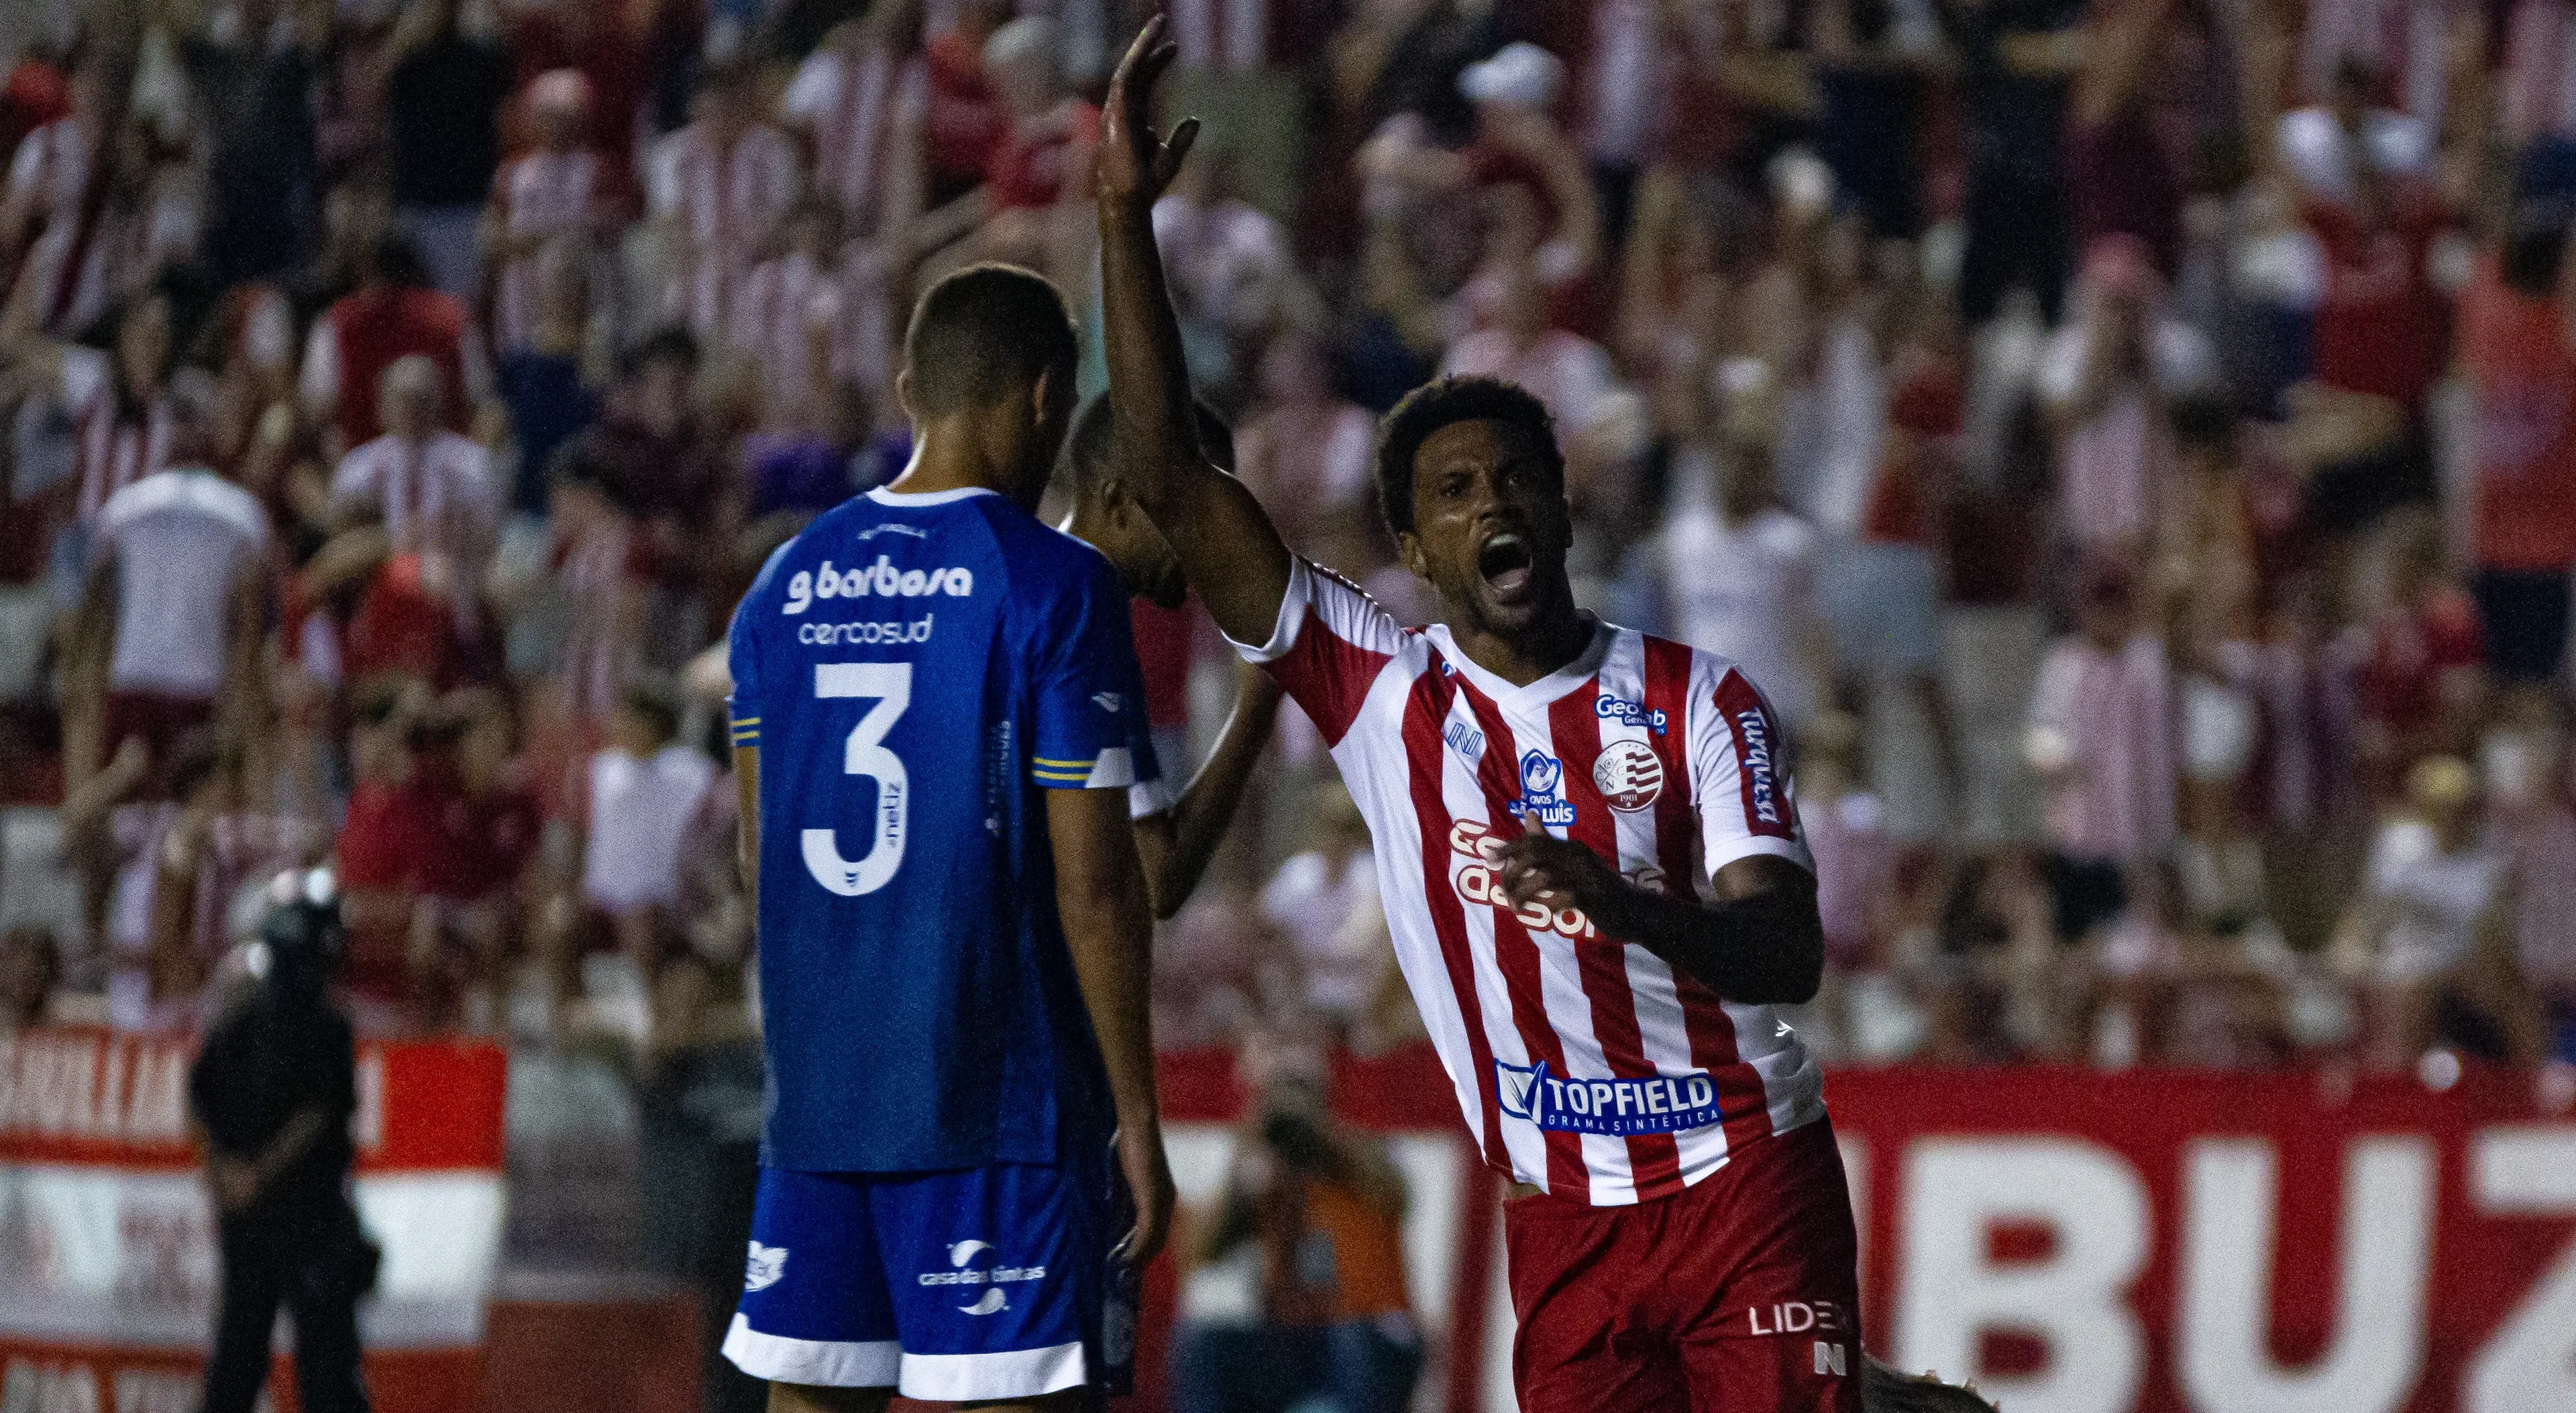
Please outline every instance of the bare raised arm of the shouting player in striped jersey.
[[1198, 137], [1198, 119], [1175, 126], [1170, 142], [1154, 134], [1154, 80], [1177, 52], [1162, 34], [1162, 15], [1136, 34], [1100, 121], [1100, 284], [1118, 467], [1216, 627], [1236, 642], [1267, 642], [1288, 596], [1288, 547], [1260, 500], [1198, 454], [1180, 320], [1154, 248], [1154, 199]]

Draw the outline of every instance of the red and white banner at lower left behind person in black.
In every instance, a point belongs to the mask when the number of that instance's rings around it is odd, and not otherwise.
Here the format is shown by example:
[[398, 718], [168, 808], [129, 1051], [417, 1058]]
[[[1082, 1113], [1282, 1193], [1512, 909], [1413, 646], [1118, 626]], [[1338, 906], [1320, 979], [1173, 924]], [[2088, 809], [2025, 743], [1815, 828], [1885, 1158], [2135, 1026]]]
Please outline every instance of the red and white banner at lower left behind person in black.
[[[0, 1037], [0, 1408], [196, 1408], [219, 1274], [188, 1150], [191, 1055], [175, 1037]], [[384, 1413], [474, 1403], [505, 1086], [492, 1044], [358, 1047], [358, 1214], [384, 1245], [361, 1333]], [[294, 1408], [291, 1379], [270, 1398]]]

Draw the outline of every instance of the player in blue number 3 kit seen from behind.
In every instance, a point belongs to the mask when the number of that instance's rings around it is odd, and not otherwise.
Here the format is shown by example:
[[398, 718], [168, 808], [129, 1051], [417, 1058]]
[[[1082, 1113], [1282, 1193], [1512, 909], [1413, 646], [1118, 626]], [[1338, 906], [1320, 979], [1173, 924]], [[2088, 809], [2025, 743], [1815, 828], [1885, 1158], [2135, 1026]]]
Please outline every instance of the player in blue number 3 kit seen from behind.
[[961, 271], [904, 361], [912, 464], [734, 611], [770, 1104], [724, 1351], [773, 1410], [1072, 1408], [1118, 1377], [1123, 1274], [1172, 1212], [1128, 830], [1151, 745], [1118, 575], [1030, 516], [1064, 302]]

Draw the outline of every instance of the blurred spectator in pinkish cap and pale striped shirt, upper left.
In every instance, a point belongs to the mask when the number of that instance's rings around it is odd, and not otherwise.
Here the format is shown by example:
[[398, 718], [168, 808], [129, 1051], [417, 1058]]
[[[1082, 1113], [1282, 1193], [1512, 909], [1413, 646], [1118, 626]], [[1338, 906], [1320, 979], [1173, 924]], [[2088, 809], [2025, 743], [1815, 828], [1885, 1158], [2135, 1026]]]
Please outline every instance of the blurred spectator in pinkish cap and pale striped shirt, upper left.
[[492, 271], [492, 351], [502, 358], [536, 338], [538, 268], [587, 263], [616, 217], [611, 173], [587, 147], [590, 83], [580, 70], [551, 70], [528, 85], [536, 150], [513, 157], [492, 180], [484, 211], [484, 263]]

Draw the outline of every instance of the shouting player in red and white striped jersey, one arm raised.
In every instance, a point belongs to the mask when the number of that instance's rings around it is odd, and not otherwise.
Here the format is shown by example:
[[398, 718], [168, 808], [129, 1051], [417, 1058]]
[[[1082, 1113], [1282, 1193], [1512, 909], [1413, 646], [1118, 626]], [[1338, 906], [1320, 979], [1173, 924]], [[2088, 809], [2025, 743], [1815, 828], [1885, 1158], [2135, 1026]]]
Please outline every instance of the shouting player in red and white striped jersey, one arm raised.
[[1816, 887], [1770, 704], [1734, 663], [1602, 624], [1566, 580], [1546, 407], [1450, 379], [1381, 433], [1404, 629], [1293, 557], [1190, 441], [1151, 204], [1146, 26], [1100, 144], [1128, 495], [1216, 624], [1314, 717], [1368, 815], [1396, 959], [1504, 1207], [1522, 1408], [1857, 1413], [1850, 1194], [1814, 1057]]

